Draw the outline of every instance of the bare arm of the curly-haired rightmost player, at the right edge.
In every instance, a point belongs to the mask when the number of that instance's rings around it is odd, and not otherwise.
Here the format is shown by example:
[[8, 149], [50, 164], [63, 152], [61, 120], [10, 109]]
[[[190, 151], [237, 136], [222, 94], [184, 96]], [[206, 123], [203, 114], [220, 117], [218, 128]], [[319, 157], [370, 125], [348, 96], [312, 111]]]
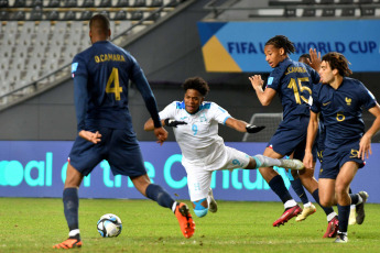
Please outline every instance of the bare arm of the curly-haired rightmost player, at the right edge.
[[368, 110], [372, 116], [376, 117], [371, 128], [362, 135], [359, 143], [359, 154], [358, 157], [365, 160], [372, 154], [371, 150], [371, 139], [380, 130], [380, 107], [377, 103], [374, 107]]

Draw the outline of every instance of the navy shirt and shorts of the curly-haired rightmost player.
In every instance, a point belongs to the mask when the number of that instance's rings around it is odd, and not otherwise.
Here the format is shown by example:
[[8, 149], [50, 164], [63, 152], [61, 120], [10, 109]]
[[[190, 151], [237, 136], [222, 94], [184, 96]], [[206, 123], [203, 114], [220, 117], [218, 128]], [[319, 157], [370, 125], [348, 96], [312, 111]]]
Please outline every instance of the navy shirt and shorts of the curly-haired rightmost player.
[[365, 165], [358, 158], [360, 139], [365, 133], [362, 110], [377, 105], [373, 95], [359, 80], [344, 77], [334, 89], [329, 85], [315, 86], [312, 111], [322, 114], [326, 131], [325, 151], [319, 178], [335, 179], [340, 167], [349, 161]]

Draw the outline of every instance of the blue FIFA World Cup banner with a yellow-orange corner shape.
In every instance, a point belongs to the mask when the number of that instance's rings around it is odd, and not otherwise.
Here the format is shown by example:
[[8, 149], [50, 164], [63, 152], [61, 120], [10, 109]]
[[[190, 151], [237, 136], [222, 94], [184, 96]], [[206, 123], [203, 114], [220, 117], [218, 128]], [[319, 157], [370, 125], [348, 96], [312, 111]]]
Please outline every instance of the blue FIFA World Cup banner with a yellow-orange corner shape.
[[263, 53], [265, 42], [285, 35], [296, 53], [316, 48], [322, 55], [343, 53], [354, 72], [380, 70], [380, 20], [198, 22], [207, 72], [271, 72]]

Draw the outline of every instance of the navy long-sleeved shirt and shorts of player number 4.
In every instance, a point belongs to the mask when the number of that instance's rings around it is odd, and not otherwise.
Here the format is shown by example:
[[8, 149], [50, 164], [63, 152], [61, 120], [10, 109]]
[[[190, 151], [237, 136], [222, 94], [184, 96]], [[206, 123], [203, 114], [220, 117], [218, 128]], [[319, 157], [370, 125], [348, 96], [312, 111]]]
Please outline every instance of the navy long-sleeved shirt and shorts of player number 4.
[[83, 175], [107, 160], [113, 175], [146, 174], [128, 108], [128, 84], [133, 81], [153, 119], [161, 127], [152, 90], [137, 61], [109, 41], [94, 43], [72, 64], [77, 130], [101, 134], [97, 144], [76, 138], [69, 162]]

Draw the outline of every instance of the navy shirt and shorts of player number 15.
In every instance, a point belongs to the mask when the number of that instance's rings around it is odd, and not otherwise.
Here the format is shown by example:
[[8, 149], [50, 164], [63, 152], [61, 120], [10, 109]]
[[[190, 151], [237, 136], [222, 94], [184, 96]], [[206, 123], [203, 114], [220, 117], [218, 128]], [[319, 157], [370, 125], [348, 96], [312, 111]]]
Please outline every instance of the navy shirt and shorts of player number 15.
[[294, 158], [303, 160], [312, 90], [318, 81], [319, 75], [313, 68], [290, 58], [279, 63], [270, 74], [267, 88], [279, 94], [283, 107], [283, 121], [268, 143], [276, 153], [291, 155], [294, 152]]

